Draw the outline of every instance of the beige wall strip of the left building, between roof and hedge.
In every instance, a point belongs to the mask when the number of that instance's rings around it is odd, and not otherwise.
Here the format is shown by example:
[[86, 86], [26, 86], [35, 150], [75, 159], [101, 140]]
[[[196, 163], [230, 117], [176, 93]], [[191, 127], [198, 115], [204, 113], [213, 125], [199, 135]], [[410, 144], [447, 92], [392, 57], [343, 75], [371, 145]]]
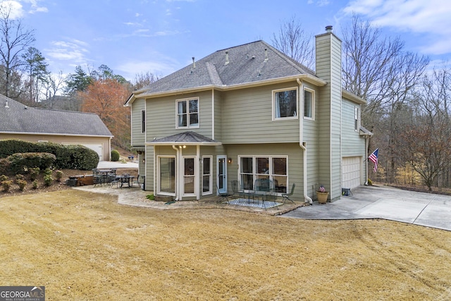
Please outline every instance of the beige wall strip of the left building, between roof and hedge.
[[110, 138], [88, 136], [64, 136], [64, 135], [29, 135], [29, 134], [0, 134], [0, 140], [19, 139], [30, 142], [48, 141], [62, 145], [102, 145], [103, 160], [110, 160]]

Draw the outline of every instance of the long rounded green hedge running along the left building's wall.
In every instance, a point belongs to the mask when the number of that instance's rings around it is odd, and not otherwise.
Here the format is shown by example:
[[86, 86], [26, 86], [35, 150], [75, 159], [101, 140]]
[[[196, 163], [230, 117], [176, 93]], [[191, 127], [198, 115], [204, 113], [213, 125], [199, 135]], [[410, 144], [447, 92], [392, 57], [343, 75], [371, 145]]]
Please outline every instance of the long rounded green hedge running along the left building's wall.
[[61, 145], [54, 142], [0, 140], [0, 158], [18, 153], [49, 153], [56, 157], [54, 168], [90, 170], [97, 168], [99, 155], [82, 145]]

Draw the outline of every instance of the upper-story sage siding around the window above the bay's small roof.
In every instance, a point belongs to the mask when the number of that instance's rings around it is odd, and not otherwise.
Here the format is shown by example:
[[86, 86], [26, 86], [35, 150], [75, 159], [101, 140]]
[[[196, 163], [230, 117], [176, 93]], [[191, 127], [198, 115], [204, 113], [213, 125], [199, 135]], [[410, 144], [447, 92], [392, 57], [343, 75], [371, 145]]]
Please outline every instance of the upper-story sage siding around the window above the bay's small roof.
[[[176, 128], [176, 101], [199, 97], [199, 128]], [[149, 109], [152, 108], [152, 109]], [[212, 126], [211, 90], [198, 93], [178, 94], [171, 97], [147, 99], [146, 136], [147, 142], [185, 131], [192, 131], [211, 137]]]

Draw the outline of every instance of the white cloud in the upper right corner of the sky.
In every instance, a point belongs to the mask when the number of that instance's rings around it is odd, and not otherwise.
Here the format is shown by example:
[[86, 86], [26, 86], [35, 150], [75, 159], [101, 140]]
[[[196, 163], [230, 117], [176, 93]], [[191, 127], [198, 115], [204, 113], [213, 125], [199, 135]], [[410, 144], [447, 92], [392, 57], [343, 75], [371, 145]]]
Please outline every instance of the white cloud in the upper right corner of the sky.
[[354, 0], [343, 9], [357, 13], [381, 27], [401, 32], [426, 35], [428, 45], [421, 47], [427, 54], [451, 52], [451, 5], [443, 0]]

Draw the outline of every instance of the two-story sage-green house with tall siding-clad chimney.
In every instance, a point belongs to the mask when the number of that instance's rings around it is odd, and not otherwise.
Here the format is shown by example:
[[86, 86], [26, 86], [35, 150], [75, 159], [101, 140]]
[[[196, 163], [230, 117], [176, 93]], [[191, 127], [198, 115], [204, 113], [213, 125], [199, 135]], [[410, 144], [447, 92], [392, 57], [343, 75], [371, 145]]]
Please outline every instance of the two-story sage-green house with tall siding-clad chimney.
[[316, 72], [263, 41], [216, 51], [133, 92], [132, 147], [145, 189], [174, 199], [266, 178], [311, 202], [366, 181], [364, 99], [342, 90], [341, 41], [316, 36]]

